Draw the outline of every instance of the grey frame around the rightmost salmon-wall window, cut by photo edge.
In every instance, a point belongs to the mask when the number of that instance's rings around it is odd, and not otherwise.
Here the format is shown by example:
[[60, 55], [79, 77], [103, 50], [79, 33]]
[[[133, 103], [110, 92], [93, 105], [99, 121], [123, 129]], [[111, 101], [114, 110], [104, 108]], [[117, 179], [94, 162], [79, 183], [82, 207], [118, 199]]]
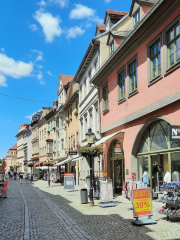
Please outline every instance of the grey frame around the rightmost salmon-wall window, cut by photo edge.
[[163, 30], [163, 55], [164, 55], [164, 76], [169, 74], [175, 68], [180, 66], [180, 60], [172, 66], [168, 66], [168, 32], [179, 23], [180, 27], [180, 15], [178, 15], [164, 30]]

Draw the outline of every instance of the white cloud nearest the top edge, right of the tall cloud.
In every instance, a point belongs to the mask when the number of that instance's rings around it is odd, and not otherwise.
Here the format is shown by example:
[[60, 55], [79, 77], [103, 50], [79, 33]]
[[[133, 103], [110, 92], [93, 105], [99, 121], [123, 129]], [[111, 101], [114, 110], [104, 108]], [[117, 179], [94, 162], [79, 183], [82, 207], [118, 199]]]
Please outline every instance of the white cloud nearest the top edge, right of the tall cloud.
[[70, 19], [89, 18], [95, 15], [95, 10], [88, 8], [82, 4], [75, 4], [75, 8], [71, 10]]

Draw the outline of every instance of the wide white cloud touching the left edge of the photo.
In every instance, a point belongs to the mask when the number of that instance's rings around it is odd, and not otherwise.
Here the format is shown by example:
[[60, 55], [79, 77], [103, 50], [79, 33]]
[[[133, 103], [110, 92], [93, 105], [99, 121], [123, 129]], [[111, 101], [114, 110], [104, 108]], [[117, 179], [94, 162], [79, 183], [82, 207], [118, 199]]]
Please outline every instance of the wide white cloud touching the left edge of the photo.
[[21, 77], [29, 77], [32, 71], [32, 62], [25, 63], [22, 61], [15, 61], [13, 58], [0, 53], [0, 74], [18, 79]]

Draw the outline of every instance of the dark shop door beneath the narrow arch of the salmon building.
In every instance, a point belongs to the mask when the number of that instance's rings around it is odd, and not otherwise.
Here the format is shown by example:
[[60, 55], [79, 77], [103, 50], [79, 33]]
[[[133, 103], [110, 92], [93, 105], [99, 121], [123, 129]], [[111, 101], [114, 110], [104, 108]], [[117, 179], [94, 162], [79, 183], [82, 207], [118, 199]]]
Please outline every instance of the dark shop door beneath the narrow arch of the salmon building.
[[124, 159], [111, 161], [111, 179], [114, 193], [122, 193], [124, 185]]

